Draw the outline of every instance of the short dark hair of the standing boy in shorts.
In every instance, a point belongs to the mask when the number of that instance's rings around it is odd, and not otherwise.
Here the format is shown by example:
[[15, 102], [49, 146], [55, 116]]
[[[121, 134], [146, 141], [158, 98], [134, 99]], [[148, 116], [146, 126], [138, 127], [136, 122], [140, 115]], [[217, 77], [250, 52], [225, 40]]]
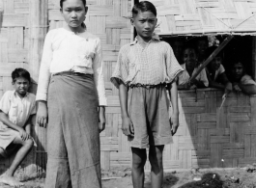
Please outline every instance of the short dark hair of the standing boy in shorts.
[[151, 12], [156, 15], [156, 7], [149, 1], [141, 1], [133, 6], [131, 10], [132, 17], [136, 16], [139, 12]]

